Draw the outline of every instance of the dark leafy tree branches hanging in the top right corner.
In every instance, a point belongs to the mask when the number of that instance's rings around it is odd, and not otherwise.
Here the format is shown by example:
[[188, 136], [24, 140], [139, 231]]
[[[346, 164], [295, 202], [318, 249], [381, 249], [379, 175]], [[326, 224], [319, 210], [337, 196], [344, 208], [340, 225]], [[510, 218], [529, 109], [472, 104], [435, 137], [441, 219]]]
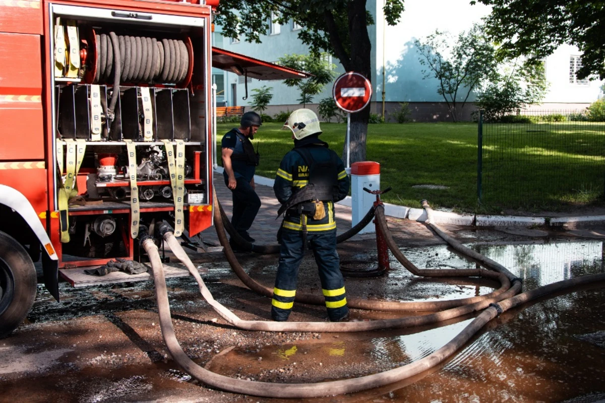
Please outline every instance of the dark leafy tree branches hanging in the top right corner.
[[492, 6], [486, 19], [489, 36], [500, 57], [552, 54], [563, 44], [583, 53], [578, 79], [597, 74], [605, 79], [605, 2], [596, 0], [476, 0]]

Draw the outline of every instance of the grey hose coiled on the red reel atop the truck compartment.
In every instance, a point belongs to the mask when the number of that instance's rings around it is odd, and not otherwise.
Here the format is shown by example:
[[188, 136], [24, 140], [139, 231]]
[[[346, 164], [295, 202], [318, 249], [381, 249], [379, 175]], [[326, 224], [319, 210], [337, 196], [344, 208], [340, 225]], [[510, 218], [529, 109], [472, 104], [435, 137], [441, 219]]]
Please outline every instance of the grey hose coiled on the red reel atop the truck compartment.
[[[113, 85], [107, 115], [113, 120], [120, 82], [174, 83], [185, 80], [189, 69], [189, 51], [180, 39], [95, 34], [96, 70], [93, 83]], [[113, 80], [112, 80], [113, 77]]]

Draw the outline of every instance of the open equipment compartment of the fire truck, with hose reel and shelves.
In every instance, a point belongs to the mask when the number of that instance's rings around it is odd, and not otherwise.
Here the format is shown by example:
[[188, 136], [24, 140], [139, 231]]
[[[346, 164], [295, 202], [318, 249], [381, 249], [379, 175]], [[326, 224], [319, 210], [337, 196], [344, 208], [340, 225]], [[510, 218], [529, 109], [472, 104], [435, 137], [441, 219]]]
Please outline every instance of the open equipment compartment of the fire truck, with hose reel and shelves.
[[[82, 198], [76, 205], [70, 199], [70, 239], [62, 243], [60, 266], [132, 259], [137, 250], [129, 234], [131, 189], [137, 189], [142, 223], [174, 222], [171, 177], [179, 173], [185, 179], [181, 208], [208, 204], [208, 24], [202, 18], [91, 7], [51, 10], [53, 130], [56, 160], [65, 161], [57, 189], [69, 175], [70, 141], [85, 144], [74, 179]], [[136, 172], [129, 169], [126, 141], [136, 146]], [[169, 167], [167, 155], [177, 141], [185, 142], [180, 172]], [[60, 210], [57, 198], [55, 204]]]

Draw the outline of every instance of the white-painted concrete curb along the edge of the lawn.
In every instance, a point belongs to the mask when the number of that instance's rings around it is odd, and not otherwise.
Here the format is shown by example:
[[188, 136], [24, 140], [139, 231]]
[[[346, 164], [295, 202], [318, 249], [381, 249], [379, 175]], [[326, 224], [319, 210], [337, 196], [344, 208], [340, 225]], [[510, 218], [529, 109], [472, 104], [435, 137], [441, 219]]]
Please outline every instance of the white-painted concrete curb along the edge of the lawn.
[[[215, 168], [215, 172], [223, 173], [223, 167]], [[259, 185], [273, 187], [273, 179], [254, 175], [254, 182]], [[337, 204], [352, 207], [352, 198], [347, 196]], [[389, 217], [407, 218], [411, 221], [427, 221], [427, 212], [424, 208], [410, 208], [396, 204], [384, 204], [384, 213]], [[605, 225], [605, 216], [577, 216], [577, 217], [526, 217], [526, 216], [489, 216], [480, 214], [457, 214], [449, 211], [433, 211], [433, 222], [445, 225], [463, 225], [476, 227], [536, 227], [548, 226], [575, 230], [590, 225]]]

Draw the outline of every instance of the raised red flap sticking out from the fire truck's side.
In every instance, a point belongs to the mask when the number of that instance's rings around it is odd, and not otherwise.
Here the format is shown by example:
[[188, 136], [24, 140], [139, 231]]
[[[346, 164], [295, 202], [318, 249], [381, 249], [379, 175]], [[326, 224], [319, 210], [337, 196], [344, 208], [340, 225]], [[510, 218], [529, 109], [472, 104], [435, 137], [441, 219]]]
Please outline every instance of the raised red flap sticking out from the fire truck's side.
[[302, 71], [276, 65], [275, 63], [263, 62], [263, 60], [215, 47], [212, 47], [212, 67], [231, 71], [238, 76], [247, 74], [251, 79], [258, 80], [306, 79], [311, 77], [311, 74]]

